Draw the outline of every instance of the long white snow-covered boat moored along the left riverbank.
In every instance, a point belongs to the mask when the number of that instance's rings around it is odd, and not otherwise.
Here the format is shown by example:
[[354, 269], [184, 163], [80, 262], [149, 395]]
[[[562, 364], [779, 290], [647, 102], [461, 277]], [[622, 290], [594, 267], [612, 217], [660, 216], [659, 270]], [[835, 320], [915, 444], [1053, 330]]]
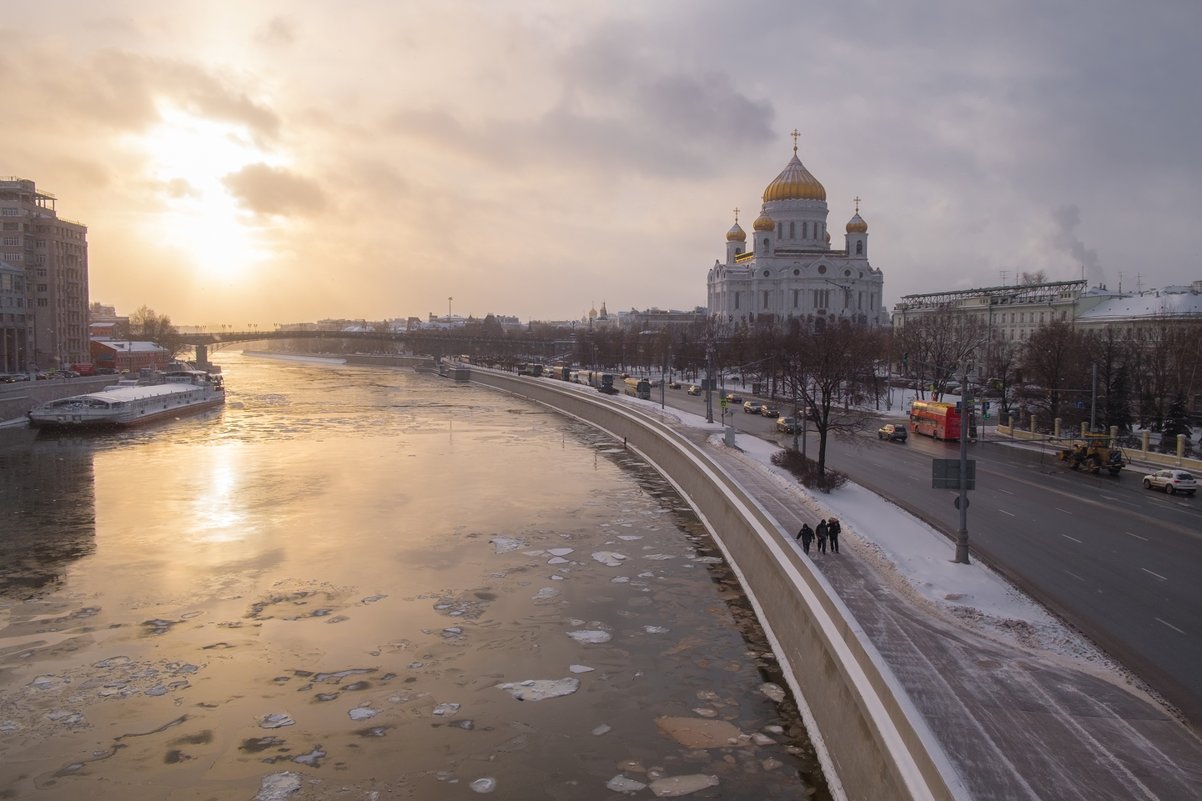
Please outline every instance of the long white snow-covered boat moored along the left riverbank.
[[49, 400], [29, 411], [35, 428], [103, 428], [141, 426], [179, 417], [225, 403], [220, 375], [174, 369], [120, 381], [99, 392]]

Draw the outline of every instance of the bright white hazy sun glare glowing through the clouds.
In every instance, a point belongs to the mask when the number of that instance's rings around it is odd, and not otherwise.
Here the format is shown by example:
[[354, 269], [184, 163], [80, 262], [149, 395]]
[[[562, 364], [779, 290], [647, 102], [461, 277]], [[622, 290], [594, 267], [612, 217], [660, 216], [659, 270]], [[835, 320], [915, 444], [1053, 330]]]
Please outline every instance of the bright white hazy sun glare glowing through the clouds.
[[251, 164], [270, 164], [237, 125], [171, 106], [138, 137], [153, 180], [166, 195], [147, 233], [185, 259], [198, 277], [237, 279], [266, 259], [254, 218], [240, 210], [224, 179]]

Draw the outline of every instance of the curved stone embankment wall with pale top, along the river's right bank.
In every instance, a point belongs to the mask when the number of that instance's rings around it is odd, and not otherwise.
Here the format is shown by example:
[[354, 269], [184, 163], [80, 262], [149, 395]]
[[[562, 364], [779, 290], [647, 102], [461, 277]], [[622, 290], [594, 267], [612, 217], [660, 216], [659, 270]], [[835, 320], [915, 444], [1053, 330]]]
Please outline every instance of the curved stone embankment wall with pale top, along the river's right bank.
[[779, 523], [704, 450], [633, 407], [555, 381], [475, 367], [471, 381], [609, 432], [679, 488], [738, 572], [803, 712], [817, 729], [835, 775], [832, 782], [843, 785], [847, 799], [966, 797], [942, 749], [846, 606], [789, 546]]

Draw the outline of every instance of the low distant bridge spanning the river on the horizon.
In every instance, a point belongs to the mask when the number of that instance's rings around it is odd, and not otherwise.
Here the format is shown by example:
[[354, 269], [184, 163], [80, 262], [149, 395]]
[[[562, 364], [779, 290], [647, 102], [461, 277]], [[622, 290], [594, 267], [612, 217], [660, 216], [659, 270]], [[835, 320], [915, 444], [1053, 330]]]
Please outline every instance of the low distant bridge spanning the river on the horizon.
[[219, 331], [184, 333], [177, 342], [191, 346], [196, 351], [198, 364], [209, 363], [209, 352], [234, 344], [249, 342], [272, 342], [284, 339], [321, 339], [343, 352], [346, 343], [362, 342], [395, 345], [397, 350], [413, 355], [441, 358], [442, 356], [469, 355], [496, 362], [508, 362], [524, 358], [554, 358], [570, 352], [575, 346], [572, 340], [536, 339], [525, 337], [464, 337], [446, 331]]

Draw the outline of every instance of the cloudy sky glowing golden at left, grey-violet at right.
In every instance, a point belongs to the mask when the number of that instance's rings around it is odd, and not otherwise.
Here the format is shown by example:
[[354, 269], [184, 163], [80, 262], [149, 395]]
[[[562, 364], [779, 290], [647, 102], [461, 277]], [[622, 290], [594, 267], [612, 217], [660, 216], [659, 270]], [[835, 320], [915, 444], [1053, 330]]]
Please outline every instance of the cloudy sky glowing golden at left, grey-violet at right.
[[177, 325], [691, 309], [792, 155], [885, 303], [1202, 279], [1202, 4], [44, 0], [0, 176]]

